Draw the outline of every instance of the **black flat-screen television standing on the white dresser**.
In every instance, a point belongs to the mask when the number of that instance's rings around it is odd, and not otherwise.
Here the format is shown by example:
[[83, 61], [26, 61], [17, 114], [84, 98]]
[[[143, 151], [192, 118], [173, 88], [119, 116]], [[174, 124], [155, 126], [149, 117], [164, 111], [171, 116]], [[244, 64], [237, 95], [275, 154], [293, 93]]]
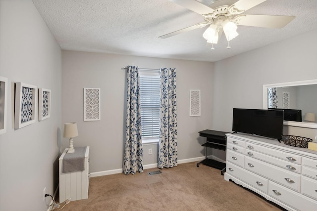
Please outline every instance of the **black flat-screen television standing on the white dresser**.
[[233, 109], [232, 130], [281, 140], [283, 110]]

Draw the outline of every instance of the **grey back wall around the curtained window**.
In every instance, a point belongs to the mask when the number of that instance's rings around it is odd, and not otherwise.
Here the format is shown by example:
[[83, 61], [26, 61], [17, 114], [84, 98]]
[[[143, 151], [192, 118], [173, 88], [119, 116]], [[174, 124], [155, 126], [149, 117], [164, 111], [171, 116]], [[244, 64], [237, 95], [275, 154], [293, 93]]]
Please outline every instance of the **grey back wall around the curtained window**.
[[[75, 146], [90, 146], [91, 172], [121, 169], [125, 140], [126, 71], [176, 68], [178, 160], [204, 156], [198, 131], [211, 128], [213, 63], [78, 51], [62, 51], [62, 122], [77, 122]], [[83, 88], [101, 88], [101, 121], [84, 122]], [[201, 90], [200, 117], [189, 117], [189, 90]], [[68, 140], [63, 138], [63, 148]], [[153, 149], [152, 156], [148, 149]], [[144, 165], [157, 163], [157, 144], [144, 147]]]

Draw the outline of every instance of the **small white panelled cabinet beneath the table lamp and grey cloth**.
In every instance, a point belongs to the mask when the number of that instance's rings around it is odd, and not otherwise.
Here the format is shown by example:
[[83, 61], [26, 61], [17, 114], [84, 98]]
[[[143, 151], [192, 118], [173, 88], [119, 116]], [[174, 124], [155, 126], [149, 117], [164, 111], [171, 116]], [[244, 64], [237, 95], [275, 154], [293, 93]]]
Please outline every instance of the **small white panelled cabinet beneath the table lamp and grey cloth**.
[[59, 202], [62, 203], [66, 199], [71, 201], [88, 199], [89, 189], [89, 146], [86, 147], [84, 157], [84, 170], [63, 173], [63, 158], [67, 153], [66, 148], [59, 157]]

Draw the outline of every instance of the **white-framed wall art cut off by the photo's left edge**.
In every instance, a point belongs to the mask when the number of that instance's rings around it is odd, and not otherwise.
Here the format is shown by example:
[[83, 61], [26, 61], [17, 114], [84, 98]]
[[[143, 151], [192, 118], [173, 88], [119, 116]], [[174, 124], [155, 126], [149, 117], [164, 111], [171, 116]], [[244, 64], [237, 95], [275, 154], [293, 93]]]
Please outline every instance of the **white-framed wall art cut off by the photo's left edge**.
[[8, 79], [0, 77], [0, 134], [6, 132], [7, 88]]

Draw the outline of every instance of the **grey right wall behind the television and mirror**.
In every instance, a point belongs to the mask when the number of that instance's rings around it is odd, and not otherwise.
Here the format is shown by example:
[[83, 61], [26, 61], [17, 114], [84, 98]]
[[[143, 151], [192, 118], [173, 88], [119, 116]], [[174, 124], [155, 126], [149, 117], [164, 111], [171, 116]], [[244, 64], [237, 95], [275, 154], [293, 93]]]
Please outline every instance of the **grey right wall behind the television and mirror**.
[[[263, 85], [317, 79], [317, 30], [214, 64], [214, 129], [231, 131], [233, 108], [263, 108]], [[315, 139], [316, 129], [284, 127]]]

